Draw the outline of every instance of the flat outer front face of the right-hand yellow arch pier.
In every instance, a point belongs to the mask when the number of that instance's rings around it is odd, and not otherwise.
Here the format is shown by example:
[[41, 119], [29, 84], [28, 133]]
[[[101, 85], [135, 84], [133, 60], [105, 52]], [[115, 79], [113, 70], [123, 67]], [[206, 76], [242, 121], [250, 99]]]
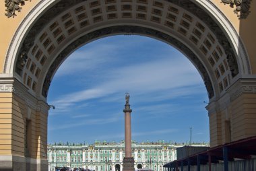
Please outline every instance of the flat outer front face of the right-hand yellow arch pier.
[[256, 79], [238, 79], [229, 92], [231, 141], [255, 136]]

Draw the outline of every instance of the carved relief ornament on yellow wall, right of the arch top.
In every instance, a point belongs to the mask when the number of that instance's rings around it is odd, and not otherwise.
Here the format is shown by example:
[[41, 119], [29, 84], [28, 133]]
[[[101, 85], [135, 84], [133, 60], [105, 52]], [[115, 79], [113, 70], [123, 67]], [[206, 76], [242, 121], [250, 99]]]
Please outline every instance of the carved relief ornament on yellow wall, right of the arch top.
[[235, 8], [234, 13], [236, 13], [239, 19], [245, 19], [249, 15], [251, 0], [222, 0], [224, 4], [230, 4], [230, 7]]

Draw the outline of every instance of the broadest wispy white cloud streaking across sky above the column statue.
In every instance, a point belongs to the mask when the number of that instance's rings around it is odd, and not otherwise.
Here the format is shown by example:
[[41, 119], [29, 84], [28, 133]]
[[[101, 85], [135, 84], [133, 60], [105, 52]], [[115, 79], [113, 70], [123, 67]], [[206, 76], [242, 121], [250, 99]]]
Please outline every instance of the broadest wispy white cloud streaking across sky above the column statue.
[[172, 59], [121, 67], [106, 73], [104, 75], [106, 79], [94, 88], [66, 94], [51, 103], [57, 108], [65, 109], [77, 102], [108, 98], [110, 94], [113, 97], [113, 94], [126, 91], [144, 96], [155, 92], [156, 96], [151, 100], [163, 100], [164, 96], [174, 98], [195, 93], [193, 86], [202, 83], [201, 78], [193, 71], [192, 66], [186, 65], [183, 69], [180, 67], [181, 61]]

